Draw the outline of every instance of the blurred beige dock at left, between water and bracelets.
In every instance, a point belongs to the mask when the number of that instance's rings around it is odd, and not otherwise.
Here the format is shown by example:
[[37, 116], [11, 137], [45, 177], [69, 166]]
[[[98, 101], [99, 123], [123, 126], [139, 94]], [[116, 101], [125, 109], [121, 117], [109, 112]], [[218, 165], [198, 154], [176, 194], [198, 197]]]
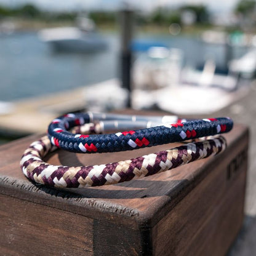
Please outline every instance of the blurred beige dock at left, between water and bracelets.
[[[117, 79], [99, 82], [93, 86], [118, 84]], [[14, 110], [0, 116], [0, 134], [10, 137], [23, 137], [34, 133], [46, 132], [47, 126], [56, 118], [72, 111], [84, 110], [86, 107], [86, 90], [90, 86], [25, 98], [14, 102]]]

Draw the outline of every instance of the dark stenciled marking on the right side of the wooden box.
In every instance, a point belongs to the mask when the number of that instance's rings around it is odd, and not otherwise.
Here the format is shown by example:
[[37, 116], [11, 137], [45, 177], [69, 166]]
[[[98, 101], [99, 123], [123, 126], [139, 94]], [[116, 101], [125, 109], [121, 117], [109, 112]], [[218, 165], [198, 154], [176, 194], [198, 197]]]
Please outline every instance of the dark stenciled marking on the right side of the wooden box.
[[247, 161], [247, 148], [244, 148], [244, 150], [240, 151], [228, 164], [228, 167], [226, 168], [226, 179], [231, 180], [238, 172], [243, 170], [241, 167], [244, 165], [244, 163]]

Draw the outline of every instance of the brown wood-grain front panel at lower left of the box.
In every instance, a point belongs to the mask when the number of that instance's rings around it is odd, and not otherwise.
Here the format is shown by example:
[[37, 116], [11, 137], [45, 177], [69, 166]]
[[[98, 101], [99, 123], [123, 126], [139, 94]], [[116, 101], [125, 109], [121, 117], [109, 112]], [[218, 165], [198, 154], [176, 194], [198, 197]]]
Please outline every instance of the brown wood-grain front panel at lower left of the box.
[[93, 255], [91, 218], [9, 196], [0, 201], [4, 255]]

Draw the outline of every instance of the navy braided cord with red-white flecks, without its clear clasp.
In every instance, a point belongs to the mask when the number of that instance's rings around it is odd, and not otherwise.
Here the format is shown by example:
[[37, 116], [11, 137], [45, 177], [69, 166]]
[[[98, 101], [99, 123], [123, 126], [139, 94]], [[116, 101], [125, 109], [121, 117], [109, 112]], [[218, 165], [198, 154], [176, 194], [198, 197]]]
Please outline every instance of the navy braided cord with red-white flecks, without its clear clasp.
[[75, 153], [103, 153], [182, 142], [191, 138], [229, 132], [233, 127], [230, 118], [214, 118], [165, 124], [116, 134], [81, 135], [71, 134], [66, 130], [91, 121], [89, 113], [61, 116], [50, 123], [49, 138], [52, 144], [63, 150]]

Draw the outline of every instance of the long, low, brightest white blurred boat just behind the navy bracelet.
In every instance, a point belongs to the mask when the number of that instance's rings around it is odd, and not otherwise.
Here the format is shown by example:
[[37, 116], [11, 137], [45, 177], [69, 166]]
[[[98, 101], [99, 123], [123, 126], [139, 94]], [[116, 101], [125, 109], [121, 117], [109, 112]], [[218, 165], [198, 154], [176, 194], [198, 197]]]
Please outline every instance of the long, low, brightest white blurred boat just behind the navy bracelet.
[[241, 87], [233, 92], [214, 87], [196, 87], [177, 84], [158, 90], [133, 90], [132, 108], [158, 108], [177, 115], [211, 114], [230, 105], [249, 92], [249, 87]]

